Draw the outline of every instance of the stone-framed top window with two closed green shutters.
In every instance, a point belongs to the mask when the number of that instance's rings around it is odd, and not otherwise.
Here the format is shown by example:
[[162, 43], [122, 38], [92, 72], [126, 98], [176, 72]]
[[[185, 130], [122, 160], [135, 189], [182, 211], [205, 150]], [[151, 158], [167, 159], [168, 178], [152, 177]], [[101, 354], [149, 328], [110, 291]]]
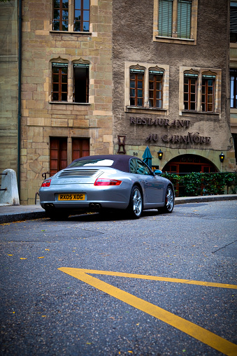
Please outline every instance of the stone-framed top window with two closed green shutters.
[[198, 0], [154, 0], [153, 40], [196, 44]]

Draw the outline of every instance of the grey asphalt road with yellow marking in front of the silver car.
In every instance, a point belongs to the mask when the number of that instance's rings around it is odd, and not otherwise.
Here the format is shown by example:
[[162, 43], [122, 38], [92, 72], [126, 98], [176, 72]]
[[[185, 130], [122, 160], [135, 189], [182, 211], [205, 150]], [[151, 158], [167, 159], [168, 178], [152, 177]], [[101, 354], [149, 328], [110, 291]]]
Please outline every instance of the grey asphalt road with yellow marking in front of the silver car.
[[0, 355], [237, 355], [236, 201], [8, 223], [0, 240]]

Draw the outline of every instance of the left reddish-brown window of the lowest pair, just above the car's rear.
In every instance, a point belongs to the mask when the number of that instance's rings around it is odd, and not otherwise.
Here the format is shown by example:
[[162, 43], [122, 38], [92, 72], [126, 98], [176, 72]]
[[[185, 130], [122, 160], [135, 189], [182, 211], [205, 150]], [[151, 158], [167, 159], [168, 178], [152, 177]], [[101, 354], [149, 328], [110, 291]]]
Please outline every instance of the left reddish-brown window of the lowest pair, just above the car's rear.
[[50, 176], [67, 166], [67, 138], [50, 137]]

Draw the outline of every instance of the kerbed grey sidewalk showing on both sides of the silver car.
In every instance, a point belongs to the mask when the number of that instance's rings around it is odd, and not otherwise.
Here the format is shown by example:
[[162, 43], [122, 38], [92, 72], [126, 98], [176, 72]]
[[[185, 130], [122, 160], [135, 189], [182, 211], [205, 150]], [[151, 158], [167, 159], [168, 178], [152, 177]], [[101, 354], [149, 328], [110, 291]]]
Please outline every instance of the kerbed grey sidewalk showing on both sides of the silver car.
[[[175, 205], [217, 200], [237, 200], [237, 194], [175, 198]], [[38, 204], [15, 206], [0, 204], [0, 224], [40, 218], [45, 218], [45, 210]]]

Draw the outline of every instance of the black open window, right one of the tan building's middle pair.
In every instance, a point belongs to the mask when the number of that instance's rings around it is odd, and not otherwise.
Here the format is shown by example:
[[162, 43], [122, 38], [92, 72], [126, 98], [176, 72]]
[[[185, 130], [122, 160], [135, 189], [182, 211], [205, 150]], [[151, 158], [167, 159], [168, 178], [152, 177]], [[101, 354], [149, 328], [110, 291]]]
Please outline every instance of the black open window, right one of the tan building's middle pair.
[[89, 64], [73, 64], [73, 101], [89, 102]]

